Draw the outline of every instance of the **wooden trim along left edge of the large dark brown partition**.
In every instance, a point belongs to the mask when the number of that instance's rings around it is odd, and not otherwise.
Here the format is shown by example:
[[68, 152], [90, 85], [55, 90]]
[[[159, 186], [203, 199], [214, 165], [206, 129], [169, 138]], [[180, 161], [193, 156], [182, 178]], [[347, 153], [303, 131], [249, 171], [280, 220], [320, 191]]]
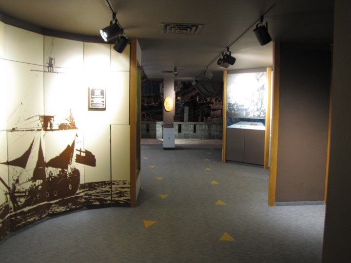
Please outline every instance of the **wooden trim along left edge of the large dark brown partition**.
[[280, 74], [280, 44], [273, 42], [273, 106], [272, 106], [272, 140], [271, 167], [269, 175], [268, 205], [275, 205], [276, 172], [278, 159], [278, 128], [279, 128], [279, 74]]

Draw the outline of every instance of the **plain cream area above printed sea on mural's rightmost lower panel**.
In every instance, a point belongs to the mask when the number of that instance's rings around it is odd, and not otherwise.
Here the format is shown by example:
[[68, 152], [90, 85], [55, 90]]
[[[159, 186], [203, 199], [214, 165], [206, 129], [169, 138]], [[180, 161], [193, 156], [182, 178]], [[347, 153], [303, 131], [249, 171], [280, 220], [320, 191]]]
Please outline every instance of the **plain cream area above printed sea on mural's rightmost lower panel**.
[[111, 126], [112, 180], [130, 180], [130, 126]]

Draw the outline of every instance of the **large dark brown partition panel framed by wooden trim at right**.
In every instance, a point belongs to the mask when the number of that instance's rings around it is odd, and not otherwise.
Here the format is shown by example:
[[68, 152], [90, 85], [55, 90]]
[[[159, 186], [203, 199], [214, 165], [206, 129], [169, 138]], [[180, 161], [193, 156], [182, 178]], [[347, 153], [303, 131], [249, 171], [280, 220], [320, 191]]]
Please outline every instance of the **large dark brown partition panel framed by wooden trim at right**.
[[330, 50], [280, 44], [276, 202], [324, 200]]

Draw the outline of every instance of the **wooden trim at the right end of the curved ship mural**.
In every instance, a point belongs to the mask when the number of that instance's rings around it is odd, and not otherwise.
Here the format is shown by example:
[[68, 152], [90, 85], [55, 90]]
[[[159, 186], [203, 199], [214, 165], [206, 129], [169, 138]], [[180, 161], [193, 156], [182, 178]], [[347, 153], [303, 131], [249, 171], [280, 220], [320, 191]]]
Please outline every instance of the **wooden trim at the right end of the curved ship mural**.
[[129, 126], [130, 126], [130, 206], [137, 206], [137, 39], [130, 44]]

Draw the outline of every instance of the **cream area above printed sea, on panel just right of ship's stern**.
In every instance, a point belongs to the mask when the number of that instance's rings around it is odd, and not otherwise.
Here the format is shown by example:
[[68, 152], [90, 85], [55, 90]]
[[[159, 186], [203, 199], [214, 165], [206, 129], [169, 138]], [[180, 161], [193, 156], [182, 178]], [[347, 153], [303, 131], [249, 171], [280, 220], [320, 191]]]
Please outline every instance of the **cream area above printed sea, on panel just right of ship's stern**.
[[96, 167], [84, 166], [85, 183], [111, 180], [110, 126], [84, 126], [84, 149], [96, 158]]

